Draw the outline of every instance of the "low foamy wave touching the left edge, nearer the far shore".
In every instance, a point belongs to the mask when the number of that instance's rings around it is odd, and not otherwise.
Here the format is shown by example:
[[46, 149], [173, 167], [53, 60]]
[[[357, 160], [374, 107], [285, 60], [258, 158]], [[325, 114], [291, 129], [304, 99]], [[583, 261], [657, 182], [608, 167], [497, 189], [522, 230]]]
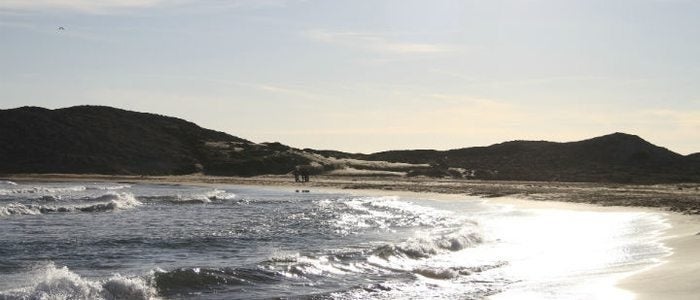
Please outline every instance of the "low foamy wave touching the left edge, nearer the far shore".
[[94, 199], [108, 202], [70, 206], [11, 203], [5, 206], [0, 206], [0, 216], [39, 215], [67, 212], [106, 212], [118, 209], [129, 209], [142, 205], [142, 203], [136, 200], [132, 194], [128, 193], [109, 193]]

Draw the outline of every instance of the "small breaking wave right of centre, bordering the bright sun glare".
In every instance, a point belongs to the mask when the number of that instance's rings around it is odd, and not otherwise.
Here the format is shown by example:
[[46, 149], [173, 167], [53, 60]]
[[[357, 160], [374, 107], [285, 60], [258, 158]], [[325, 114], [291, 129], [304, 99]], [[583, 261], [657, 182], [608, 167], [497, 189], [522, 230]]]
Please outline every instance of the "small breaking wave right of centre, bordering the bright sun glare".
[[389, 244], [376, 248], [373, 255], [388, 259], [390, 257], [420, 259], [437, 254], [466, 249], [481, 243], [478, 233], [461, 231], [455, 234], [441, 235], [433, 239], [415, 238], [399, 244]]

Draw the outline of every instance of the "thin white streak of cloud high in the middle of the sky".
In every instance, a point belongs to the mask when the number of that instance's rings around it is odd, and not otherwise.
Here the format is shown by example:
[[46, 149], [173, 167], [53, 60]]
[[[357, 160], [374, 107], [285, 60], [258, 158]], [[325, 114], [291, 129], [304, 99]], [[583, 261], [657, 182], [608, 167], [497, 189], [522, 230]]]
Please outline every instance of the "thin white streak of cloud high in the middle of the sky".
[[316, 29], [304, 31], [303, 35], [318, 42], [389, 54], [429, 54], [454, 50], [453, 47], [443, 44], [394, 41], [382, 35], [358, 32], [331, 32]]

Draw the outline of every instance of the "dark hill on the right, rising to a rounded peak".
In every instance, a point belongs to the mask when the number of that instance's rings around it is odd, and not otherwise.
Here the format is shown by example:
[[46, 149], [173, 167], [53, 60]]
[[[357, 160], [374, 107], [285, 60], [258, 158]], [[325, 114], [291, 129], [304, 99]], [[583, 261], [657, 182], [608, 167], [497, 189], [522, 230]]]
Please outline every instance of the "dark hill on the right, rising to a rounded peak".
[[380, 152], [364, 158], [464, 168], [485, 179], [642, 183], [700, 179], [697, 160], [624, 133], [570, 143], [513, 141], [448, 151]]

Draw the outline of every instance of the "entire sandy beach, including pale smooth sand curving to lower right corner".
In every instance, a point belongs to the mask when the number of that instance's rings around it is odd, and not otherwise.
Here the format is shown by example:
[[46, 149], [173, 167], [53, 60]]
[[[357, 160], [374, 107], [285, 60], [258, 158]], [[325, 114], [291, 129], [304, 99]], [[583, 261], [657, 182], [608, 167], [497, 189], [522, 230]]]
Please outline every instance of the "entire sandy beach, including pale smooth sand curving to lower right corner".
[[[320, 177], [298, 184], [288, 176], [210, 177], [210, 176], [104, 176], [104, 175], [16, 175], [7, 179], [28, 181], [112, 181], [125, 183], [162, 183], [194, 185], [243, 185], [296, 187], [343, 191], [357, 194], [430, 195], [433, 198], [459, 200], [480, 196], [494, 204], [520, 209], [634, 210], [661, 213], [671, 228], [661, 233], [660, 242], [671, 254], [659, 264], [639, 270], [617, 281], [615, 287], [629, 291], [635, 299], [697, 299], [700, 295], [700, 192], [699, 184], [635, 186], [596, 183], [549, 182], [475, 182], [427, 178]], [[680, 186], [680, 187], [679, 187]], [[682, 188], [681, 188], [682, 187]], [[578, 194], [577, 194], [578, 193]], [[659, 195], [662, 199], [655, 198]], [[504, 197], [508, 196], [508, 197]], [[621, 199], [608, 197], [620, 196]], [[673, 200], [682, 202], [673, 206]], [[694, 202], [694, 203], [693, 203]], [[650, 205], [651, 204], [651, 205]], [[682, 214], [682, 213], [685, 214]]]

